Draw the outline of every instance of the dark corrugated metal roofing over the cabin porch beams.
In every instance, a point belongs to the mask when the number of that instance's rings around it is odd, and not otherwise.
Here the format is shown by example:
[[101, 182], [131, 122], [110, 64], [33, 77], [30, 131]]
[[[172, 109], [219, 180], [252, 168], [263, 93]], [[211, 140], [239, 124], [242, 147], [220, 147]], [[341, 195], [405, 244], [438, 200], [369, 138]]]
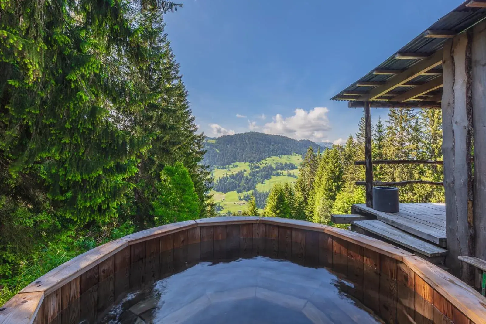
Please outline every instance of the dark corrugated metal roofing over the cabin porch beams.
[[[466, 6], [470, 0], [464, 2], [456, 9], [452, 10], [450, 13], [445, 15], [444, 17], [437, 20], [432, 26], [427, 28], [425, 31], [428, 30], [439, 30], [439, 31], [453, 31], [456, 34], [460, 34], [465, 30], [469, 29], [479, 21], [483, 20], [486, 17], [486, 8], [478, 8], [478, 7], [468, 7]], [[424, 33], [425, 33], [424, 31]], [[356, 86], [358, 82], [370, 82], [370, 81], [386, 81], [392, 78], [394, 75], [375, 75], [373, 71], [377, 69], [392, 69], [392, 70], [404, 70], [407, 68], [412, 67], [416, 63], [420, 62], [420, 59], [396, 59], [395, 54], [398, 52], [406, 52], [406, 53], [433, 53], [437, 50], [442, 49], [444, 42], [447, 38], [428, 38], [424, 37], [424, 33], [419, 34], [415, 37], [412, 41], [410, 41], [407, 45], [403, 46], [399, 51], [395, 52], [391, 55], [388, 59], [386, 59], [382, 64], [373, 68], [369, 73], [364, 75], [361, 79], [353, 82], [347, 88], [336, 94], [332, 97], [332, 100], [355, 100], [358, 97], [353, 96], [345, 96], [343, 95], [345, 92], [350, 91], [360, 91], [360, 92], [369, 92], [374, 87], [372, 86]], [[441, 71], [442, 67], [438, 66], [433, 70]], [[438, 77], [438, 75], [419, 75], [417, 78], [413, 79], [413, 82], [425, 82], [430, 81], [434, 78]], [[404, 92], [407, 90], [412, 89], [413, 87], [409, 86], [399, 86], [392, 90], [393, 93], [396, 92]], [[432, 94], [432, 92], [431, 92]], [[343, 98], [345, 97], [345, 98]], [[379, 98], [376, 100], [380, 100]]]

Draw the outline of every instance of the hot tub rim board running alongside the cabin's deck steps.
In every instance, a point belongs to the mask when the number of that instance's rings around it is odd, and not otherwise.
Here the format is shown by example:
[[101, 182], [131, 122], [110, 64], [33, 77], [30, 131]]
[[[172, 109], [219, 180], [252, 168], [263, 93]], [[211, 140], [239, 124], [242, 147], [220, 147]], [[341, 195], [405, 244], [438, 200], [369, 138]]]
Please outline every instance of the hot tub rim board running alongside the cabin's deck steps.
[[345, 239], [349, 242], [361, 245], [364, 248], [381, 253], [385, 256], [392, 257], [399, 261], [401, 261], [403, 256], [413, 256], [412, 253], [406, 252], [397, 246], [391, 245], [389, 243], [385, 243], [379, 239], [373, 239], [365, 235], [347, 231], [341, 228], [330, 226], [326, 228], [326, 233], [334, 237]]

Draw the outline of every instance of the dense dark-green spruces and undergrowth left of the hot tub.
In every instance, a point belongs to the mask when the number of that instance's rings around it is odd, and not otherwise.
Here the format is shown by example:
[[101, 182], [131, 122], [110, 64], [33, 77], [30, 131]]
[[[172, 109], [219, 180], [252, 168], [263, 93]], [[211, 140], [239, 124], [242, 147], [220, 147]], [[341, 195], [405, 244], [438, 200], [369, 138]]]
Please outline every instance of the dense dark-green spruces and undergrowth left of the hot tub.
[[0, 305], [98, 244], [208, 217], [169, 1], [0, 1]]

